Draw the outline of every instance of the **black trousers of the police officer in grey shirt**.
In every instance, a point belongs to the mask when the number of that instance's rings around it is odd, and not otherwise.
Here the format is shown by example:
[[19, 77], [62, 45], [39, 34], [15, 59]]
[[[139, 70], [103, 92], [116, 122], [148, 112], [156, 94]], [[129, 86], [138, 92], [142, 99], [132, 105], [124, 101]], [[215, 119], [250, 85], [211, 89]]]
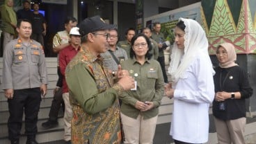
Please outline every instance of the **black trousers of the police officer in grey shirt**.
[[22, 117], [25, 114], [25, 134], [34, 139], [38, 132], [38, 111], [40, 109], [40, 88], [14, 90], [13, 99], [8, 99], [8, 134], [10, 141], [19, 139]]

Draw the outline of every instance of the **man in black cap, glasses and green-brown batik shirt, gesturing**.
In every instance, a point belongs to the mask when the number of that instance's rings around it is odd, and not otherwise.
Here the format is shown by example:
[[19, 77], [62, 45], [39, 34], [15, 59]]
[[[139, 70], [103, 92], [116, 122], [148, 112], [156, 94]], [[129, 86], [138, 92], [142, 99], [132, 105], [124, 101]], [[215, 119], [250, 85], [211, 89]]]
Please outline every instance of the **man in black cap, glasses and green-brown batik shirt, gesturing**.
[[134, 79], [119, 66], [119, 80], [114, 84], [103, 65], [100, 53], [107, 51], [109, 29], [113, 27], [99, 16], [84, 19], [79, 25], [81, 51], [65, 71], [73, 111], [72, 144], [121, 143], [118, 96], [134, 87]]

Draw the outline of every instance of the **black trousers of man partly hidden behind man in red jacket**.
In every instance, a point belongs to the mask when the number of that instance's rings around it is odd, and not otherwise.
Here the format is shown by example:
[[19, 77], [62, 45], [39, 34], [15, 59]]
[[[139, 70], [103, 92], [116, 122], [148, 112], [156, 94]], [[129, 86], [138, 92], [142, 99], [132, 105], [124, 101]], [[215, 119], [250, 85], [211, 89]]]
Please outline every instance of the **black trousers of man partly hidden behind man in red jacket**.
[[[57, 68], [57, 73], [58, 73], [58, 81], [57, 81], [56, 86], [62, 87], [63, 75], [61, 75], [60, 67]], [[58, 120], [58, 111], [61, 109], [61, 105], [63, 106], [63, 111], [64, 111], [65, 104], [64, 104], [64, 101], [62, 98], [62, 89], [59, 89], [55, 93], [54, 99], [51, 102], [51, 109], [49, 111], [49, 120], [51, 120], [51, 121]]]

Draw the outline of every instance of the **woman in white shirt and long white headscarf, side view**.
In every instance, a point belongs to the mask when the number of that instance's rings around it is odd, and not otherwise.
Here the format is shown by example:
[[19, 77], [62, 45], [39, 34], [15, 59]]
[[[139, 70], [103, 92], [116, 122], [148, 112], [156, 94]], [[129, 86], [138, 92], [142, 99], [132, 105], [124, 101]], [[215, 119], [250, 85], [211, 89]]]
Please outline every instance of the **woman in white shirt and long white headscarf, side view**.
[[215, 72], [205, 31], [197, 21], [179, 19], [168, 72], [171, 82], [165, 92], [168, 98], [174, 98], [170, 135], [176, 144], [206, 143]]

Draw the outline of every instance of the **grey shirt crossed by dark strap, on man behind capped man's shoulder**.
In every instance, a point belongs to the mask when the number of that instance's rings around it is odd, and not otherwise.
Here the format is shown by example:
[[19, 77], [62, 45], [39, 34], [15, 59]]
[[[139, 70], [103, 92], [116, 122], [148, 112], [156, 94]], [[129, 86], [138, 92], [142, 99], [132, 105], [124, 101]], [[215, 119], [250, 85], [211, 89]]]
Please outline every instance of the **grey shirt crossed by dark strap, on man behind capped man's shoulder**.
[[[111, 50], [106, 51], [105, 53], [101, 53], [100, 55], [104, 58], [103, 64], [107, 68], [111, 69], [111, 71], [118, 71], [118, 64], [115, 62], [114, 58], [111, 55]], [[118, 59], [119, 62], [122, 62], [123, 60], [127, 60], [127, 53], [124, 49], [116, 47], [115, 51], [113, 51], [113, 54]]]

